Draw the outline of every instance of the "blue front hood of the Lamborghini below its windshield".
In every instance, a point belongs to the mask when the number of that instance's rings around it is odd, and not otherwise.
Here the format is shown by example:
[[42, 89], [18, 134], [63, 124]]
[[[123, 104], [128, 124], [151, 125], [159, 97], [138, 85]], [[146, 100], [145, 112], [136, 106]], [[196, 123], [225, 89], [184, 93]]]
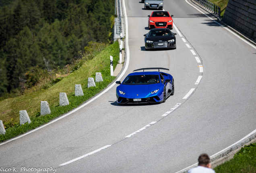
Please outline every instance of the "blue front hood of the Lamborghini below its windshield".
[[126, 85], [119, 86], [120, 90], [128, 94], [148, 94], [160, 88], [159, 84], [141, 84], [141, 85]]

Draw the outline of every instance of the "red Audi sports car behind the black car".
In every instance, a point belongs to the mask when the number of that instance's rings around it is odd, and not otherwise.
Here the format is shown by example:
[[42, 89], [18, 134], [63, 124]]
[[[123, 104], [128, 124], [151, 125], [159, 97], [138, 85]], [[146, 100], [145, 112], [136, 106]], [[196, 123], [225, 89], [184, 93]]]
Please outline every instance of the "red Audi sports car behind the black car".
[[172, 29], [172, 17], [167, 11], [154, 11], [149, 15], [149, 29], [169, 28]]

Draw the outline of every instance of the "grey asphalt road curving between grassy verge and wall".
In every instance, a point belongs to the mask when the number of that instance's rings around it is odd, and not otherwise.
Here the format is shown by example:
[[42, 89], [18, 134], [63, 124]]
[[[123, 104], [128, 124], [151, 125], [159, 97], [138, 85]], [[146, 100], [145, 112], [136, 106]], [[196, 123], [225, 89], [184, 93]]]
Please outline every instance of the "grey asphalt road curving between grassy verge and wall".
[[[213, 155], [254, 131], [256, 49], [188, 2], [164, 1], [181, 34], [177, 49], [145, 51], [143, 35], [153, 10], [144, 10], [139, 0], [125, 0], [130, 62], [121, 80], [137, 68], [169, 68], [173, 96], [156, 105], [118, 105], [114, 86], [78, 111], [0, 144], [0, 168], [175, 173], [196, 163], [201, 153]], [[202, 79], [195, 84], [198, 76]]]

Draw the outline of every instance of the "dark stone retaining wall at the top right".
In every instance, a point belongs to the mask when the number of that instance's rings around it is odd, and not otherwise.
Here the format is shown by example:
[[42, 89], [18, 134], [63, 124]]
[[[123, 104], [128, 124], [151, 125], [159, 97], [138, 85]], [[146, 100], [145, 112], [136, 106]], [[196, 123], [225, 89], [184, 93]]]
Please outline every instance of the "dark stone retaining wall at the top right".
[[256, 0], [229, 0], [223, 22], [256, 42]]

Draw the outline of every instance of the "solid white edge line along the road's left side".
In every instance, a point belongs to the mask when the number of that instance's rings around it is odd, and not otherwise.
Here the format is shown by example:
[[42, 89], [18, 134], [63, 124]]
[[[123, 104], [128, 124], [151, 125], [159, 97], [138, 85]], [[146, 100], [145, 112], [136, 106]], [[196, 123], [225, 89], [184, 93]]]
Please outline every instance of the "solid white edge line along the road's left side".
[[[126, 70], [128, 69], [128, 65], [129, 65], [129, 62], [130, 62], [130, 48], [129, 48], [129, 44], [128, 44], [128, 38], [129, 38], [129, 36], [128, 36], [128, 17], [127, 17], [127, 13], [126, 13], [125, 0], [123, 0], [123, 3], [124, 3], [123, 7], [124, 7], [125, 24], [126, 24], [126, 36], [125, 36], [125, 38], [126, 38], [126, 65], [125, 65], [125, 67], [124, 67], [124, 71], [120, 74], [120, 76], [118, 77], [118, 79], [117, 79], [116, 81], [120, 80], [120, 79], [124, 76]], [[88, 105], [89, 103], [95, 101], [95, 100], [98, 99], [101, 95], [103, 95], [103, 94], [105, 94], [107, 91], [109, 91], [109, 89], [111, 89], [112, 87], [114, 87], [114, 85], [116, 85], [116, 82], [114, 82], [113, 84], [111, 84], [111, 85], [110, 85], [107, 89], [105, 89], [102, 93], [100, 93], [99, 95], [97, 95], [96, 97], [94, 97], [93, 99], [91, 99], [90, 101], [88, 101], [87, 103], [81, 105], [80, 107], [74, 109], [73, 111], [67, 113], [66, 115], [63, 115], [62, 117], [59, 117], [58, 119], [55, 119], [54, 121], [51, 121], [50, 123], [47, 123], [47, 124], [45, 124], [45, 125], [43, 125], [43, 126], [41, 126], [41, 127], [38, 127], [37, 129], [34, 129], [34, 130], [29, 131], [29, 132], [27, 132], [27, 133], [25, 133], [25, 134], [23, 134], [23, 135], [20, 135], [19, 137], [15, 137], [15, 138], [13, 138], [13, 139], [10, 139], [10, 140], [8, 140], [8, 141], [5, 141], [5, 142], [3, 142], [3, 143], [0, 143], [0, 145], [4, 145], [4, 144], [6, 144], [6, 143], [8, 143], [8, 142], [10, 142], [10, 141], [14, 141], [15, 139], [19, 139], [19, 138], [21, 138], [21, 137], [23, 137], [23, 136], [25, 136], [25, 135], [28, 135], [28, 134], [30, 134], [30, 133], [33, 133], [34, 131], [39, 130], [39, 129], [41, 129], [41, 128], [47, 126], [47, 125], [50, 125], [50, 124], [52, 124], [52, 123], [55, 123], [56, 121], [58, 121], [58, 120], [60, 120], [60, 119], [63, 119], [64, 117], [66, 117], [66, 116], [68, 116], [68, 115], [70, 115], [70, 114], [72, 114], [72, 113], [78, 111], [79, 109], [85, 107], [85, 106]]]

